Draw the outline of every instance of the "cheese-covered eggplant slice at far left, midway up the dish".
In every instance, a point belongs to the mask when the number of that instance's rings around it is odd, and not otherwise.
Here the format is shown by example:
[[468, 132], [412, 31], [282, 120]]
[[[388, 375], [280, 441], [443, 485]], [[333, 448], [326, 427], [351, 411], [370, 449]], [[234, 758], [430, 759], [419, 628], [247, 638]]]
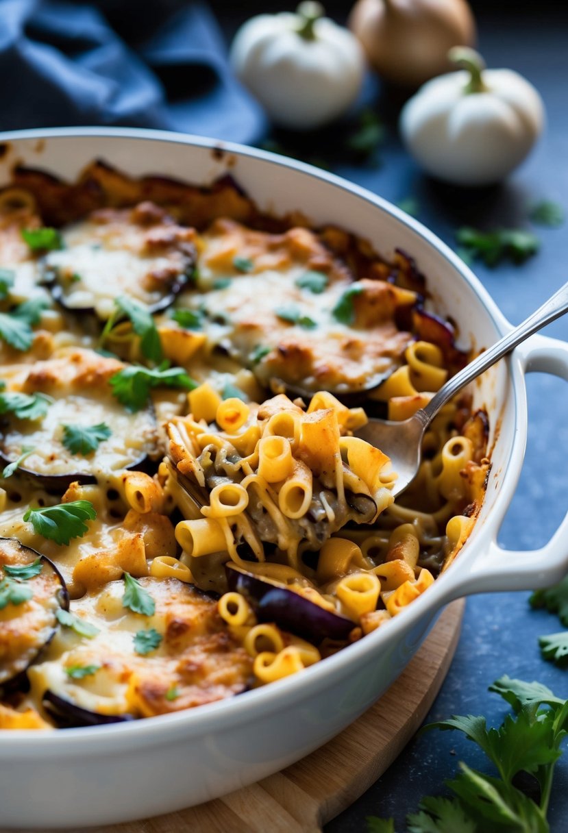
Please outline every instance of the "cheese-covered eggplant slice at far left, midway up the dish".
[[[41, 479], [48, 489], [64, 491], [73, 481], [96, 482], [99, 471], [140, 467], [147, 456], [156, 457], [152, 408], [127, 412], [107, 384], [122, 367], [121, 362], [90, 350], [36, 362], [21, 387], [27, 394], [47, 395], [47, 412], [37, 420], [17, 419], [11, 412], [2, 415], [0, 461], [6, 465], [31, 449], [17, 471]], [[87, 429], [92, 436], [95, 426], [99, 428], [95, 436], [102, 438], [93, 450], [81, 443], [77, 448], [64, 426], [72, 426], [77, 442], [78, 431]], [[100, 426], [107, 430], [101, 433]]]

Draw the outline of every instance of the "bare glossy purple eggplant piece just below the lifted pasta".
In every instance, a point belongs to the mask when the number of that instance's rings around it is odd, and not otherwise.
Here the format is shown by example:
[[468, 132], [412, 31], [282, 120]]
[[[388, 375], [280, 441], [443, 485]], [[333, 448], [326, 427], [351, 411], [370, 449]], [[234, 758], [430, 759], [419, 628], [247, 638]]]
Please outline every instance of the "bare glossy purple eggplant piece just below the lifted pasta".
[[311, 642], [328, 637], [346, 640], [356, 623], [337, 613], [324, 610], [309, 599], [286, 587], [252, 573], [225, 566], [229, 590], [241, 593], [260, 621], [276, 622], [282, 631], [290, 631]]

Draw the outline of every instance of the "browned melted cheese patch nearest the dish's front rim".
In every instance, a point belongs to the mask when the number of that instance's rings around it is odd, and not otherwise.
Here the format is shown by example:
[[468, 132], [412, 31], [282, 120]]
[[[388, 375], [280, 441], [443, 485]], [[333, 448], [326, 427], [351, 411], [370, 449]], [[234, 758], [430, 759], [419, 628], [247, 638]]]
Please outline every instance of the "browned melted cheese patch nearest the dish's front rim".
[[[122, 581], [72, 604], [72, 612], [98, 633], [89, 639], [67, 628], [58, 631], [45, 661], [28, 671], [36, 701], [49, 689], [89, 711], [152, 716], [245, 690], [252, 660], [227, 633], [217, 603], [174, 578], [139, 581], [155, 602], [153, 616], [122, 605]], [[150, 628], [162, 640], [139, 654], [134, 636]], [[97, 671], [74, 680], [65, 671], [71, 666]]]

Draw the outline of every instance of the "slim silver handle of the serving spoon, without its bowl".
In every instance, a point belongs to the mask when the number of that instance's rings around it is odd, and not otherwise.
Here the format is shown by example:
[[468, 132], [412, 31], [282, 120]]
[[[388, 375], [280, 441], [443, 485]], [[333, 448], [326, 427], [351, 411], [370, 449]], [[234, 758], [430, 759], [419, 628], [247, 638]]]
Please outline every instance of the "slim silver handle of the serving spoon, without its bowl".
[[558, 292], [546, 301], [542, 307], [533, 312], [522, 324], [515, 327], [506, 336], [503, 336], [488, 350], [480, 353], [473, 362], [470, 362], [456, 376], [443, 385], [440, 390], [431, 398], [430, 402], [423, 409], [421, 421], [427, 425], [436, 416], [437, 412], [446, 402], [451, 399], [462, 387], [466, 387], [481, 375], [488, 367], [494, 365], [500, 358], [511, 352], [517, 344], [524, 342], [534, 332], [540, 330], [545, 324], [550, 324], [556, 318], [561, 317], [568, 310], [568, 283], [565, 283]]

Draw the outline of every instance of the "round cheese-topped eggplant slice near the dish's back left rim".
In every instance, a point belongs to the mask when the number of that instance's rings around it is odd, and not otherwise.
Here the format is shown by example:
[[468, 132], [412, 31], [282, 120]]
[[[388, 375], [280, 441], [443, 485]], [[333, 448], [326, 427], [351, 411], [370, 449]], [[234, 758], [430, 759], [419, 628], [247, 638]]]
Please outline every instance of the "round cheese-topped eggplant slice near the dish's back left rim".
[[153, 202], [102, 208], [62, 229], [62, 249], [43, 259], [43, 281], [70, 312], [106, 320], [121, 295], [159, 312], [192, 279], [194, 236]]

